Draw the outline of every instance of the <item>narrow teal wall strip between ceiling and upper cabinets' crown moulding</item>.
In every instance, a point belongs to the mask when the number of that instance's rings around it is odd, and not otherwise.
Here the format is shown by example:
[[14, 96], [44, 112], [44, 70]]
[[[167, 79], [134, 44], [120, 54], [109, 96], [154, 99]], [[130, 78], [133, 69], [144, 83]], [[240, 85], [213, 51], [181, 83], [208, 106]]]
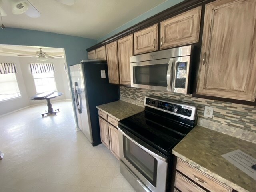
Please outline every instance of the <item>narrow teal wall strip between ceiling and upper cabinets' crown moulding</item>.
[[134, 18], [133, 20], [130, 20], [126, 24], [118, 27], [117, 29], [113, 30], [112, 32], [99, 38], [97, 40], [97, 43], [102, 42], [102, 41], [106, 40], [107, 38], [110, 38], [110, 37], [114, 36], [115, 34], [118, 34], [119, 32], [122, 32], [122, 31], [134, 26], [135, 24], [138, 24], [139, 22], [142, 22], [142, 21], [146, 20], [147, 18], [150, 18], [150, 17], [154, 16], [155, 14], [158, 14], [158, 13], [160, 13], [160, 12], [162, 12], [162, 11], [164, 11], [182, 1], [184, 1], [184, 0], [167, 0], [166, 2], [163, 2], [162, 4], [152, 8], [148, 12], [145, 12], [144, 14]]

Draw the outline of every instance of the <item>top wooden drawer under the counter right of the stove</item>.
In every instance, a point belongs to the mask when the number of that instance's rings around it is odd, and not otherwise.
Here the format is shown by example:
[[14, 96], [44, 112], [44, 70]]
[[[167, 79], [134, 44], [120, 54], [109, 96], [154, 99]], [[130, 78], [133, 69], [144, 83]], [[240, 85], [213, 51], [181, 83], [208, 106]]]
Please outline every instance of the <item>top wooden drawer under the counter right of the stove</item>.
[[188, 176], [194, 182], [200, 184], [211, 192], [232, 192], [232, 188], [218, 182], [214, 178], [204, 174], [183, 160], [177, 160], [177, 170]]

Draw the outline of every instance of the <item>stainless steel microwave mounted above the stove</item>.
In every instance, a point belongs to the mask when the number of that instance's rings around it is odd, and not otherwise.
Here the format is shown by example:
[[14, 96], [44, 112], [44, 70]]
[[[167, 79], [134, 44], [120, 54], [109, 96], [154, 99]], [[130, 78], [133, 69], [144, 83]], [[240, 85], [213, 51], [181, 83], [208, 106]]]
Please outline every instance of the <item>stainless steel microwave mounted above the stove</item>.
[[191, 52], [190, 45], [130, 57], [131, 86], [187, 94]]

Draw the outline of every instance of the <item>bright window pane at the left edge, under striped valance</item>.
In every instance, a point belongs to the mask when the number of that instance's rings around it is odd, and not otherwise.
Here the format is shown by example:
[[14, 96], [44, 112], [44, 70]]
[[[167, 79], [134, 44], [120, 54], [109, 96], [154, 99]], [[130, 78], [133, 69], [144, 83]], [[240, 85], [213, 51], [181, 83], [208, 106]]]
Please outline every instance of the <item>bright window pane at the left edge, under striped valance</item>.
[[0, 74], [0, 101], [20, 96], [15, 73]]

